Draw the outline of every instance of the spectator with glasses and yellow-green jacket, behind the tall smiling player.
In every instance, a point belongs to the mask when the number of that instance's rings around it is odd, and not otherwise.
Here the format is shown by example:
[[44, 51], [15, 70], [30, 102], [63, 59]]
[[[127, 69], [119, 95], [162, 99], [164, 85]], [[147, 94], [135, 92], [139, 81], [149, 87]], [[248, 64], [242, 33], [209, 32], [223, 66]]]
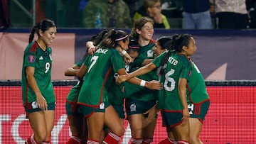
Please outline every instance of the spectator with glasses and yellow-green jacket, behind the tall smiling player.
[[154, 20], [154, 28], [170, 28], [166, 16], [161, 13], [160, 0], [144, 0], [144, 6], [141, 6], [134, 14], [134, 23], [143, 16], [150, 17]]

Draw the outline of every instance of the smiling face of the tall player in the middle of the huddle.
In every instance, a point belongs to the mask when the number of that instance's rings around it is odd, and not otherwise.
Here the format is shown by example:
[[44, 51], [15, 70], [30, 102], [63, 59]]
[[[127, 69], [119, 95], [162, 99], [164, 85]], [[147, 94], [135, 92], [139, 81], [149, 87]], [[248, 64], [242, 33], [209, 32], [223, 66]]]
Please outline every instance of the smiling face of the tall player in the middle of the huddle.
[[139, 34], [139, 38], [142, 38], [143, 40], [151, 40], [154, 34], [154, 27], [152, 23], [147, 22], [140, 31], [137, 31], [137, 33]]

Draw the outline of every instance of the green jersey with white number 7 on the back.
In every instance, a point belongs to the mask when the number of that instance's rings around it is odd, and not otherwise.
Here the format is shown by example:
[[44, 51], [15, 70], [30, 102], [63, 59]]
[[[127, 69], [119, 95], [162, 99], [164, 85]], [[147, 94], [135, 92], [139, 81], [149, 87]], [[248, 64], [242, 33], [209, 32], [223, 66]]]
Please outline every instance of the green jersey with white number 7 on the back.
[[78, 104], [97, 107], [108, 101], [107, 92], [114, 84], [114, 73], [124, 68], [124, 61], [114, 48], [99, 48], [95, 55], [86, 58], [84, 65], [87, 72], [78, 96]]

